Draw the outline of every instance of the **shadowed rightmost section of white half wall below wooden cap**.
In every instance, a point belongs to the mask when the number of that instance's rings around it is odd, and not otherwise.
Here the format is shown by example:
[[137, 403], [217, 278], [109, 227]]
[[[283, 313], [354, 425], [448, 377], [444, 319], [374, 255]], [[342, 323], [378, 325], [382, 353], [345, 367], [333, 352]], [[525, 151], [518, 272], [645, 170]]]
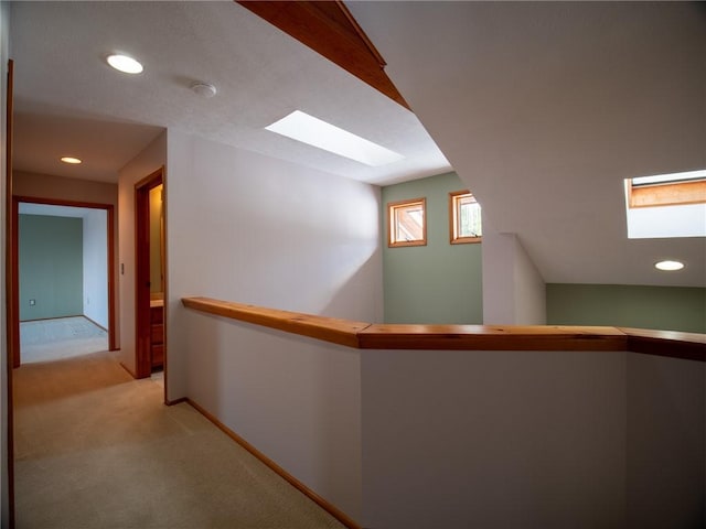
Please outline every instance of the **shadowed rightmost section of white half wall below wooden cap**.
[[706, 364], [628, 355], [628, 527], [706, 527]]

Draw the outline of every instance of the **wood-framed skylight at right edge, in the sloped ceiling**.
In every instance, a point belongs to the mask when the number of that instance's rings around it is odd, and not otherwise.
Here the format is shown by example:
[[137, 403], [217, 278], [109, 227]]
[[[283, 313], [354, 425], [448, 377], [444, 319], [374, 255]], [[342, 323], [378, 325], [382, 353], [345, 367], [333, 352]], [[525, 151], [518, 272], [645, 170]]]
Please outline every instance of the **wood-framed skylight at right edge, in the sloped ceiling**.
[[625, 180], [628, 238], [706, 237], [706, 170]]

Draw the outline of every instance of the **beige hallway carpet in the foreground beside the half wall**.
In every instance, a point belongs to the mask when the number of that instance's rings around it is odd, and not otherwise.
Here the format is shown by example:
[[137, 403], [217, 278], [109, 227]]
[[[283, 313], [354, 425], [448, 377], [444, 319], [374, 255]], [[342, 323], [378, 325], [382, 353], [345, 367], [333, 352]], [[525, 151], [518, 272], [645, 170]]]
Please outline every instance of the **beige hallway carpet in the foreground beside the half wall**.
[[14, 370], [18, 529], [341, 529], [110, 353]]

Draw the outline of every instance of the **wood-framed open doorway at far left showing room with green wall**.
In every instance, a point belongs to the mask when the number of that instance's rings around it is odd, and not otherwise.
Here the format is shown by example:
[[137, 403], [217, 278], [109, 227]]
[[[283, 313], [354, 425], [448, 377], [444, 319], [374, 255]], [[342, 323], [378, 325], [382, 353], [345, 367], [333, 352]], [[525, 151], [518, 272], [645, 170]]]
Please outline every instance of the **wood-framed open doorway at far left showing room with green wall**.
[[114, 350], [113, 206], [12, 204], [13, 366]]

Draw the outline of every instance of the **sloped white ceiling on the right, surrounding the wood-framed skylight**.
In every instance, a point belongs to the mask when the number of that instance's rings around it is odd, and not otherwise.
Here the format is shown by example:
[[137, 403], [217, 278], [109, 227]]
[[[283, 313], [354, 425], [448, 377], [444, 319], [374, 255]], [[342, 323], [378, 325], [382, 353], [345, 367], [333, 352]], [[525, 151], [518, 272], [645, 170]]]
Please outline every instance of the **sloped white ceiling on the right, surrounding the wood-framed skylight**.
[[347, 6], [545, 281], [706, 285], [706, 239], [629, 240], [623, 198], [623, 179], [706, 168], [703, 3]]

